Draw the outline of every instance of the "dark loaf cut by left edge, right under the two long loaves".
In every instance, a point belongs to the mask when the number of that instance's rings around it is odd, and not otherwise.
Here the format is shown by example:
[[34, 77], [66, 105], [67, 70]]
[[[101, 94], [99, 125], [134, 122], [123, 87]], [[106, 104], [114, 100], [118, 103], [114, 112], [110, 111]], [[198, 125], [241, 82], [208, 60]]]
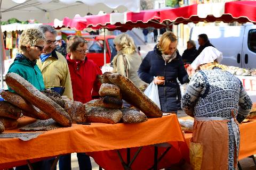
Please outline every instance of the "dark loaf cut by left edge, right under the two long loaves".
[[7, 101], [0, 101], [0, 116], [18, 119], [21, 114], [21, 109], [10, 104]]

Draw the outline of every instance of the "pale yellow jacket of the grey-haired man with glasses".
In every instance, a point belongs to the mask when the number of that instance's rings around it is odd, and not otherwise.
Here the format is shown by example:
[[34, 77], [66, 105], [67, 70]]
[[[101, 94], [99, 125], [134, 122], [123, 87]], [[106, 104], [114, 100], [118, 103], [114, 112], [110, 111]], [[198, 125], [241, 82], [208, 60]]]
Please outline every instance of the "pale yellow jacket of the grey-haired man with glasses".
[[63, 96], [73, 99], [73, 91], [68, 63], [66, 58], [56, 52], [58, 59], [50, 56], [43, 63], [37, 60], [37, 65], [42, 72], [45, 88], [65, 87]]

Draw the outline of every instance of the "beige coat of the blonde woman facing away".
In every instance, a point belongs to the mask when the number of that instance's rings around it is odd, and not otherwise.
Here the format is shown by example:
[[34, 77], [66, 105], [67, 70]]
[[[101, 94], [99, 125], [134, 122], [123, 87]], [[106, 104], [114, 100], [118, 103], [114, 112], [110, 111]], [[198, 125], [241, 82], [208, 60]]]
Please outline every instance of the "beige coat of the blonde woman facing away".
[[125, 70], [125, 58], [127, 61], [128, 78], [137, 86], [140, 90], [144, 91], [148, 84], [142, 81], [137, 74], [139, 66], [142, 62], [141, 56], [138, 53], [125, 54], [118, 52], [113, 59], [113, 73], [120, 73], [127, 77]]

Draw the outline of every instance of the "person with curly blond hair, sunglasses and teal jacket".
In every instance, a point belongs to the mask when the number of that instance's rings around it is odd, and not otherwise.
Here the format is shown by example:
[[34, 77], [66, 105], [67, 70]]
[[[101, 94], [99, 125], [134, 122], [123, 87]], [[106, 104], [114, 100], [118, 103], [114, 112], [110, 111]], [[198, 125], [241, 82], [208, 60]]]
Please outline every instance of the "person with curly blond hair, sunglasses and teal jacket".
[[[35, 28], [24, 30], [19, 39], [19, 53], [14, 62], [10, 65], [8, 73], [19, 74], [22, 78], [30, 82], [39, 91], [45, 89], [41, 71], [36, 65], [36, 60], [40, 58], [44, 48], [44, 35]], [[13, 91], [8, 87], [10, 91]], [[13, 91], [14, 92], [14, 91]], [[42, 162], [31, 164], [34, 169], [40, 169]], [[16, 170], [29, 169], [27, 165], [19, 166]]]

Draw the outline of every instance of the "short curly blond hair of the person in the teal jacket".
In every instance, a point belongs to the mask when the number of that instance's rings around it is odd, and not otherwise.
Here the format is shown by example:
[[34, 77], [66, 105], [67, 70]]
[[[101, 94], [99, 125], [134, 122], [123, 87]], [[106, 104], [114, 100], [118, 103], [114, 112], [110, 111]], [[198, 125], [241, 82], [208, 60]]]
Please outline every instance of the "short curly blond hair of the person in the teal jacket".
[[30, 28], [23, 31], [19, 39], [19, 52], [26, 52], [27, 45], [34, 46], [42, 40], [45, 41], [44, 34], [37, 28]]

